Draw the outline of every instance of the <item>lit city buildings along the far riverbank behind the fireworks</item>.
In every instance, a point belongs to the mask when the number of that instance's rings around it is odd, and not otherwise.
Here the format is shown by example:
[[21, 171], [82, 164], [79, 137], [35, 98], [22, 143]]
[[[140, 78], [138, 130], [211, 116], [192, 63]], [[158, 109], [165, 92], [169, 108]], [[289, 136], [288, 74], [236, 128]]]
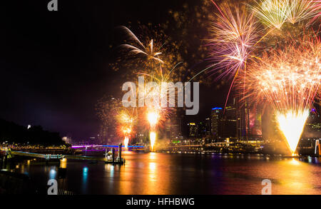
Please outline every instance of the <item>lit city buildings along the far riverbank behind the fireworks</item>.
[[[223, 114], [223, 108], [221, 107], [214, 107], [211, 108], [211, 113], [208, 115], [208, 117], [200, 118], [199, 121], [193, 121], [193, 120], [185, 120], [183, 121], [183, 116], [178, 117], [176, 114], [173, 116], [173, 119], [168, 119], [165, 121], [163, 127], [160, 128], [160, 130], [165, 131], [164, 134], [161, 134], [159, 137], [161, 141], [175, 141], [175, 140], [184, 140], [184, 139], [195, 139], [195, 138], [208, 138], [208, 141], [213, 142], [223, 142], [226, 141], [227, 138], [229, 138], [230, 141], [269, 141], [272, 138], [282, 138], [282, 135], [280, 135], [278, 128], [276, 125], [272, 126], [272, 129], [266, 130], [263, 128], [263, 125], [270, 126], [269, 124], [263, 124], [262, 122], [262, 110], [258, 112], [256, 108], [252, 109], [252, 111], [249, 112], [249, 115], [252, 116], [251, 125], [248, 124], [250, 128], [248, 128], [248, 133], [246, 132], [246, 127], [243, 128], [243, 134], [240, 134], [240, 130], [242, 128], [240, 127], [240, 121], [243, 121], [240, 118], [240, 115], [237, 115], [237, 111], [235, 108], [235, 105], [230, 104], [225, 108], [225, 113]], [[243, 109], [244, 111], [244, 109]], [[263, 116], [265, 117], [265, 123], [266, 121], [269, 121], [270, 117], [268, 115]], [[270, 114], [271, 115], [271, 114]], [[274, 117], [274, 116], [272, 116]], [[173, 123], [173, 121], [175, 121]], [[179, 122], [178, 122], [179, 121]], [[310, 116], [307, 120], [307, 123], [305, 125], [305, 131], [302, 133], [302, 138], [315, 138], [319, 139], [321, 137], [321, 118], [320, 113], [317, 113], [315, 111], [315, 108], [311, 109]], [[202, 129], [203, 128], [203, 129]], [[265, 129], [265, 131], [263, 131]], [[139, 130], [139, 128], [138, 128]], [[144, 142], [148, 142], [148, 131], [142, 130], [142, 131], [136, 131], [136, 136], [133, 137], [133, 143], [135, 142], [142, 142], [142, 136], [144, 138]], [[175, 131], [173, 131], [175, 130]], [[274, 136], [274, 133], [277, 133], [277, 136]], [[266, 132], [266, 133], [263, 133]], [[269, 132], [269, 133], [267, 133]], [[99, 136], [100, 135], [100, 136]], [[118, 138], [116, 132], [111, 133], [113, 138], [110, 138], [108, 136], [105, 136], [105, 139], [99, 139], [101, 138], [101, 134], [98, 134], [98, 136], [91, 136], [96, 138], [95, 141], [91, 141], [91, 143], [98, 143], [98, 144], [108, 144], [108, 143], [115, 143], [115, 142], [121, 142], [121, 140], [116, 140]], [[140, 137], [141, 136], [141, 137]], [[89, 137], [89, 138], [91, 138]], [[109, 138], [109, 140], [108, 140]], [[141, 140], [139, 140], [141, 138]], [[84, 140], [86, 141], [86, 140]], [[82, 141], [82, 142], [84, 142]], [[81, 143], [81, 141], [73, 141], [73, 143]]]

